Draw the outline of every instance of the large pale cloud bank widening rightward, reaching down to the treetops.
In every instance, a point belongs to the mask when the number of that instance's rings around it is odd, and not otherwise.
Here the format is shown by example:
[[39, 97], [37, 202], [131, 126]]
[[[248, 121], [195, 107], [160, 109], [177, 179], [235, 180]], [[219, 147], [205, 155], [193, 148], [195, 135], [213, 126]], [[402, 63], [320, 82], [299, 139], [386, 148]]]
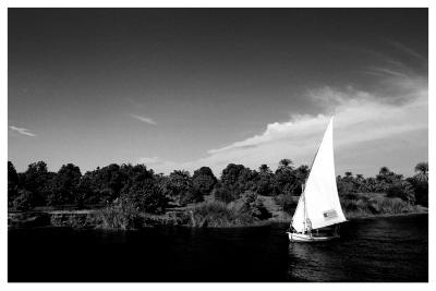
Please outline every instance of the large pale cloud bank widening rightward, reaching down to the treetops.
[[[376, 171], [382, 166], [412, 169], [415, 159], [425, 157], [428, 138], [427, 78], [392, 69], [375, 70], [383, 74], [378, 89], [363, 90], [352, 86], [324, 86], [306, 92], [317, 114], [293, 114], [286, 122], [272, 122], [250, 138], [209, 149], [205, 157], [174, 162], [148, 158], [149, 167], [170, 172], [193, 171], [210, 167], [216, 174], [230, 162], [255, 169], [262, 163], [277, 166], [282, 158], [295, 165], [311, 165], [316, 147], [335, 111], [335, 149], [337, 172]], [[412, 153], [413, 151], [413, 153]], [[405, 166], [404, 166], [405, 165]], [[374, 173], [374, 172], [373, 172]]]

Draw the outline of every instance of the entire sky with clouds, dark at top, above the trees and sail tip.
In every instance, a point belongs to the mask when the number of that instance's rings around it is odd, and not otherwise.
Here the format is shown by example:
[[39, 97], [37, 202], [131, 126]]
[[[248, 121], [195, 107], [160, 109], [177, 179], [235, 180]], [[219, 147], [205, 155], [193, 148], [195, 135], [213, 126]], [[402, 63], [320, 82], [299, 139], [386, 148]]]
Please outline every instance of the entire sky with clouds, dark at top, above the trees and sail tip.
[[58, 171], [428, 159], [427, 9], [9, 9], [8, 157]]

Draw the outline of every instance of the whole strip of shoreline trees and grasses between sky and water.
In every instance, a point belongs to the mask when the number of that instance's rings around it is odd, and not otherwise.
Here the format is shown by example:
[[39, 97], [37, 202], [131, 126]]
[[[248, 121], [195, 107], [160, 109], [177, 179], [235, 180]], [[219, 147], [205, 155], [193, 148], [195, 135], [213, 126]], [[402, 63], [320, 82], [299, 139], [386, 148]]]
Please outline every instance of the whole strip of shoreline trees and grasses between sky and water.
[[[426, 213], [428, 163], [415, 174], [382, 167], [376, 177], [337, 177], [348, 219]], [[252, 170], [228, 165], [216, 178], [208, 167], [191, 175], [155, 173], [144, 165], [109, 165], [85, 174], [68, 163], [49, 172], [44, 161], [16, 172], [8, 161], [9, 226], [129, 230], [155, 226], [247, 227], [289, 222], [308, 174], [307, 166], [282, 159]]]

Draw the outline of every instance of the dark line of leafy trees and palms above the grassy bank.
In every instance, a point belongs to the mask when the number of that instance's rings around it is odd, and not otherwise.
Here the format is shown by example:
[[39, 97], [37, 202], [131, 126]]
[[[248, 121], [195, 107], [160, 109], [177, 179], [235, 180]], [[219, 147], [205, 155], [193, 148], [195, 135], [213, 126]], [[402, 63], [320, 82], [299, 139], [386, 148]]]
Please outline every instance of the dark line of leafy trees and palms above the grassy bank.
[[[174, 170], [168, 175], [156, 173], [145, 165], [111, 163], [82, 174], [73, 163], [63, 165], [58, 172], [50, 172], [47, 163], [28, 165], [24, 172], [16, 172], [8, 161], [8, 205], [17, 210], [37, 206], [93, 208], [129, 201], [142, 211], [164, 213], [168, 206], [199, 203], [207, 195], [230, 203], [250, 195], [275, 196], [284, 210], [301, 194], [310, 168], [294, 167], [290, 159], [282, 159], [272, 171], [267, 165], [250, 169], [229, 163], [219, 179], [208, 167], [191, 174]], [[376, 177], [364, 178], [346, 172], [337, 177], [341, 196], [353, 193], [386, 193], [410, 204], [428, 205], [428, 163], [420, 162], [415, 175], [404, 178], [383, 167]]]

